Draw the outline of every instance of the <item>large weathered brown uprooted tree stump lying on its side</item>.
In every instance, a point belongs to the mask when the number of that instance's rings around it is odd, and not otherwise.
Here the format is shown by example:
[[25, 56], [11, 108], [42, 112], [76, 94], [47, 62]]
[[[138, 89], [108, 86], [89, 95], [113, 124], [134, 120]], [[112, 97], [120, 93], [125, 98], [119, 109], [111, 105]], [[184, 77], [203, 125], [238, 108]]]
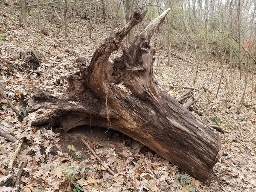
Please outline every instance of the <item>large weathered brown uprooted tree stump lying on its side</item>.
[[[167, 93], [153, 74], [154, 49], [150, 40], [170, 9], [154, 19], [122, 56], [109, 60], [128, 32], [141, 22], [135, 12], [122, 31], [107, 38], [90, 65], [67, 77], [69, 88], [62, 99], [35, 91], [29, 111], [53, 112], [32, 125], [61, 126], [64, 131], [92, 125], [120, 131], [143, 143], [160, 156], [205, 181], [221, 157], [221, 139]], [[77, 74], [77, 73], [76, 73]]]

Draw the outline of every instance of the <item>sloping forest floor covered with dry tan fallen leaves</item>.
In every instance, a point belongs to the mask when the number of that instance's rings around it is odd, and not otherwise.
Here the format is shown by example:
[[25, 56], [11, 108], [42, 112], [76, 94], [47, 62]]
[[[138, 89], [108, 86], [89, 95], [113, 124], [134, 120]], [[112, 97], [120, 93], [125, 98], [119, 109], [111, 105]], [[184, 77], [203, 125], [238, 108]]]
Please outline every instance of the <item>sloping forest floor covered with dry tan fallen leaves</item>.
[[[18, 11], [6, 9], [0, 12], [4, 13], [0, 14], [1, 81], [5, 84], [4, 90], [8, 93], [9, 99], [24, 113], [35, 87], [54, 96], [63, 96], [67, 82], [63, 81], [63, 86], [59, 86], [57, 80], [76, 72], [76, 66], [73, 64], [75, 59], [80, 56], [90, 59], [111, 31], [110, 23], [95, 25], [92, 39], [89, 39], [88, 20], [74, 18], [69, 28], [70, 35], [65, 38], [63, 27], [59, 24], [61, 19], [58, 17], [52, 16], [43, 20], [41, 28], [44, 30], [41, 32], [33, 11], [28, 17], [29, 24], [23, 27], [18, 25]], [[53, 24], [54, 22], [56, 24]], [[31, 51], [41, 59], [40, 67], [37, 69], [40, 74], [18, 67], [26, 63], [26, 58], [22, 55], [27, 55]], [[179, 52], [175, 54], [196, 63], [195, 55]], [[242, 106], [241, 112], [236, 113], [244, 89], [245, 72], [239, 80], [239, 70], [234, 69], [234, 93], [230, 94], [230, 69], [225, 64], [224, 78], [216, 97], [221, 77], [221, 64], [217, 60], [209, 59], [208, 67], [201, 63], [196, 75], [196, 65], [176, 57], [171, 57], [170, 64], [166, 65], [167, 51], [160, 46], [156, 46], [155, 57], [157, 80], [163, 90], [174, 98], [186, 90], [172, 88], [172, 85], [196, 87], [199, 91], [195, 94], [204, 88], [212, 93], [204, 92], [193, 106], [203, 114], [199, 118], [209, 124], [219, 125], [225, 131], [221, 134], [224, 154], [207, 182], [202, 183], [185, 175], [177, 166], [146, 147], [142, 147], [140, 151], [134, 150], [131, 138], [116, 131], [80, 127], [64, 133], [61, 129], [46, 130], [32, 127], [31, 122], [34, 119], [48, 114], [50, 110], [41, 109], [26, 114], [25, 119], [20, 121], [7, 105], [7, 101], [2, 99], [0, 128], [17, 139], [25, 137], [25, 142], [29, 146], [20, 151], [13, 171], [8, 172], [9, 158], [17, 143], [7, 142], [0, 137], [0, 183], [11, 175], [15, 177], [20, 163], [28, 160], [21, 179], [21, 191], [24, 192], [256, 191], [256, 105], [248, 108]], [[251, 92], [252, 79], [255, 79], [255, 74], [253, 78], [249, 78], [247, 84], [244, 99], [246, 104], [256, 102], [256, 94]], [[90, 138], [89, 145], [105, 161], [104, 165], [99, 164], [82, 143], [81, 139], [85, 139], [83, 135]], [[106, 164], [116, 173], [115, 175], [107, 171]], [[12, 187], [0, 187], [0, 191], [11, 190]]]

